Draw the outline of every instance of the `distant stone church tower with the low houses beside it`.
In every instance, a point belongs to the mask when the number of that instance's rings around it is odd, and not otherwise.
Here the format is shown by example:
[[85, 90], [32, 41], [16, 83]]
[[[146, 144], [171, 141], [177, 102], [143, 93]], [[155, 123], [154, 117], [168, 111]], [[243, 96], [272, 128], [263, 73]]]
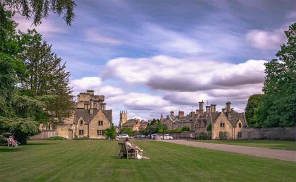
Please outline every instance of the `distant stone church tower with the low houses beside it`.
[[118, 129], [119, 131], [123, 128], [131, 128], [131, 131], [139, 131], [145, 130], [147, 127], [148, 122], [145, 120], [140, 120], [137, 118], [128, 119], [128, 112], [127, 111], [120, 111], [120, 120]]

